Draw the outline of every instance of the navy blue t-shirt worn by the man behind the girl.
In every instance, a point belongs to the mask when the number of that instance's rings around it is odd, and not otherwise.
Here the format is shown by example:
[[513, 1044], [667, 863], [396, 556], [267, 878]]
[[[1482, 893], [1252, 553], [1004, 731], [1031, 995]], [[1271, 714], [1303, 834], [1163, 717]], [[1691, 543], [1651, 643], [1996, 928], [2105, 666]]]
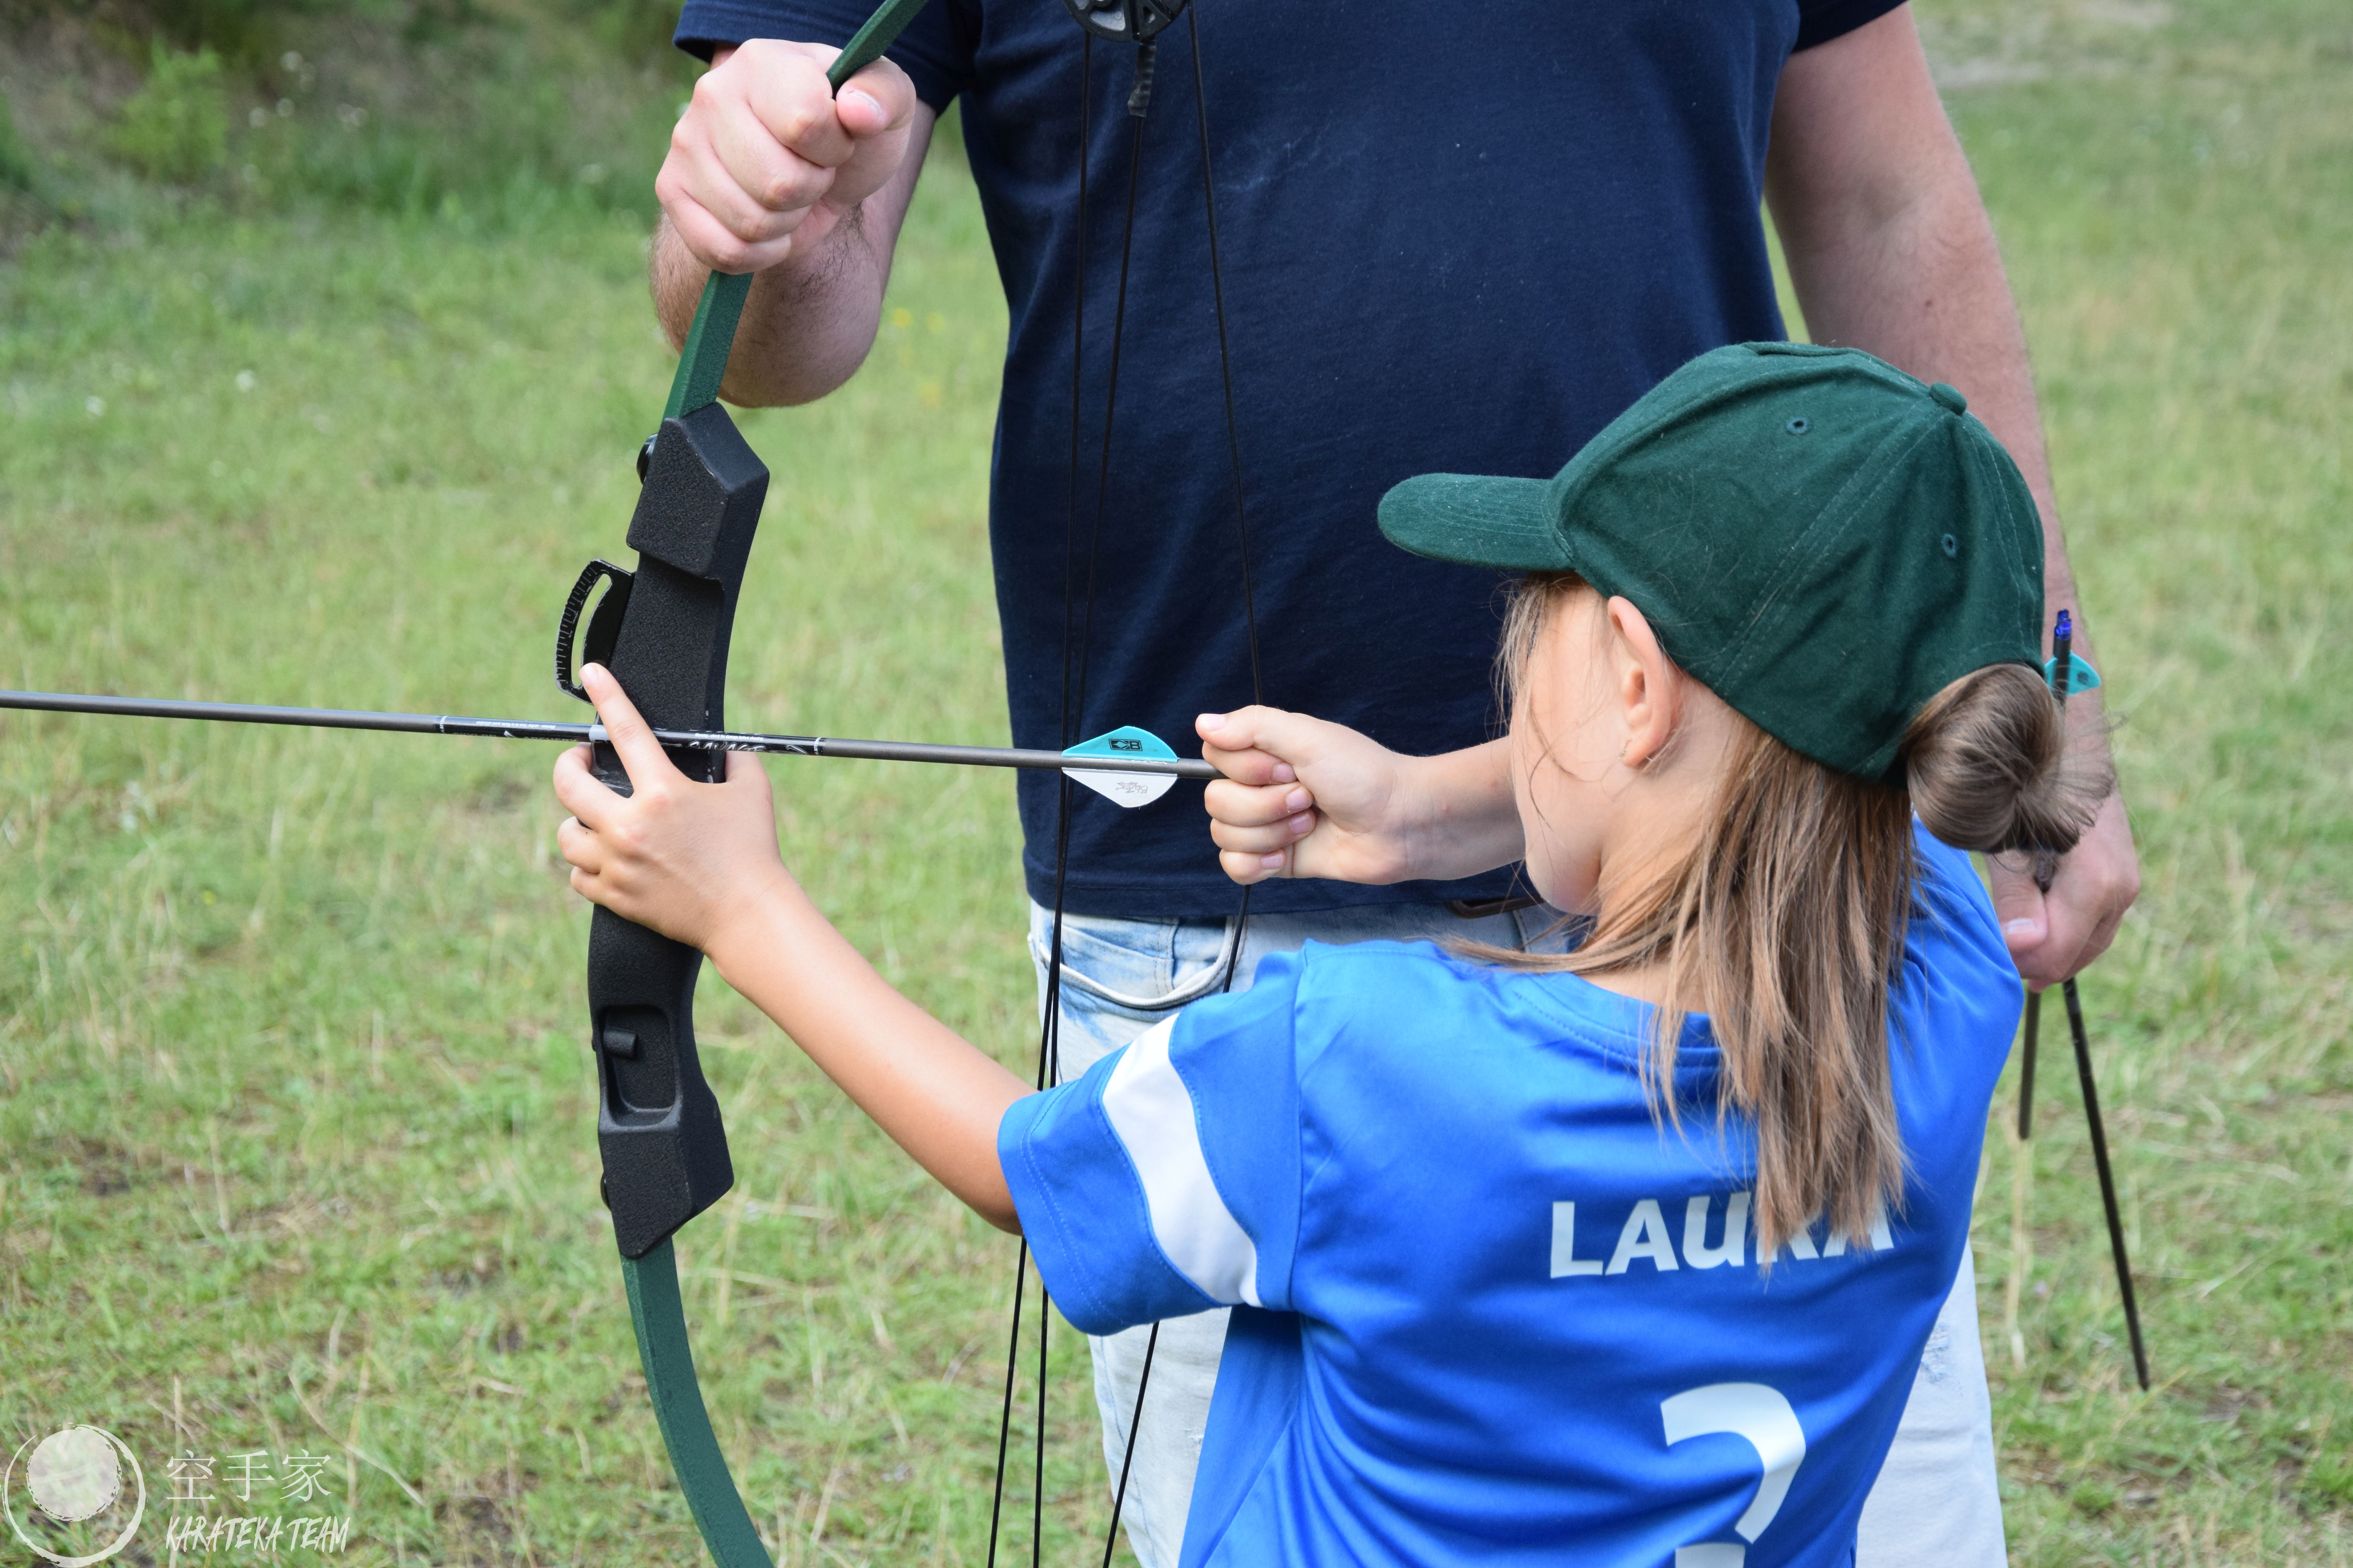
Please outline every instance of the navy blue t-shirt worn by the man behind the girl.
[[[1499, 578], [1374, 527], [1428, 470], [1551, 475], [1671, 369], [1781, 336], [1758, 216], [1791, 49], [1894, 0], [1195, 0], [1266, 701], [1402, 752], [1492, 738]], [[868, 0], [687, 0], [682, 47], [845, 42]], [[1016, 745], [1061, 745], [1082, 35], [1061, 0], [932, 0], [892, 49], [965, 148], [1012, 310], [991, 482]], [[1134, 49], [1094, 45], [1078, 536], [1101, 527], [1085, 710], [1195, 755], [1252, 701], [1191, 28], [1160, 35], [1096, 517]], [[1080, 571], [1080, 578], [1085, 574]], [[1085, 592], [1078, 585], [1080, 597]], [[1052, 776], [1024, 776], [1052, 898]], [[1200, 788], [1122, 811], [1075, 792], [1068, 907], [1221, 917]], [[1271, 882], [1257, 907], [1487, 898]]]

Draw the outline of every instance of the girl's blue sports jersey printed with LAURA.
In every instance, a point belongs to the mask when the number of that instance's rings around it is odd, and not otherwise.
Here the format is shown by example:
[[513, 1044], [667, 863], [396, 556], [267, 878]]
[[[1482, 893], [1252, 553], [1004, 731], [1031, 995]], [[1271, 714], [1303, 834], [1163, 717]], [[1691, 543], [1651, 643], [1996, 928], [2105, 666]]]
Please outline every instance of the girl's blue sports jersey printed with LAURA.
[[998, 1131], [1087, 1333], [1233, 1305], [1184, 1568], [1847, 1563], [1969, 1234], [2019, 980], [1920, 835], [1889, 999], [1901, 1213], [1758, 1267], [1753, 1143], [1685, 1023], [1428, 943], [1308, 945]]

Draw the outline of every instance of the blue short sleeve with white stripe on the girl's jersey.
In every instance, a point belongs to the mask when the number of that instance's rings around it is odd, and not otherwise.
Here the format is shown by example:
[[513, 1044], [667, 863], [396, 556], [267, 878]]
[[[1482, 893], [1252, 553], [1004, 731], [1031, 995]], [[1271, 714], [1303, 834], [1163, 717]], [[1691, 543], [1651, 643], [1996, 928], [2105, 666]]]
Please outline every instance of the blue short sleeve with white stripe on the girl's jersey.
[[998, 1161], [1064, 1316], [1115, 1333], [1289, 1305], [1299, 1237], [1299, 959], [1016, 1100]]

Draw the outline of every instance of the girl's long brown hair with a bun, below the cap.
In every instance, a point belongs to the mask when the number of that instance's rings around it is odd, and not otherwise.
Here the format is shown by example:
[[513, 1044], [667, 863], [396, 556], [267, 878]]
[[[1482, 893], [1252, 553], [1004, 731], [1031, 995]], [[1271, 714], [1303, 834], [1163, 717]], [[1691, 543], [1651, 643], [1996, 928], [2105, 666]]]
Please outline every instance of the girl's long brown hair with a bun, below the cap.
[[[1513, 595], [1497, 670], [1506, 698], [1579, 592], [1593, 590], [1541, 574]], [[2064, 853], [2108, 780], [2066, 776], [2059, 708], [2026, 665], [1965, 675], [1920, 710], [1906, 788], [1838, 773], [1732, 717], [1741, 736], [1680, 863], [1640, 884], [1605, 865], [1602, 919], [1574, 952], [1478, 952], [1584, 976], [1664, 964], [1642, 1086], [1668, 1121], [1682, 1018], [1706, 1001], [1722, 1053], [1718, 1121], [1739, 1110], [1755, 1124], [1762, 1260], [1814, 1215], [1864, 1239], [1901, 1204], [1887, 990], [1913, 912], [1913, 813], [1958, 849]]]

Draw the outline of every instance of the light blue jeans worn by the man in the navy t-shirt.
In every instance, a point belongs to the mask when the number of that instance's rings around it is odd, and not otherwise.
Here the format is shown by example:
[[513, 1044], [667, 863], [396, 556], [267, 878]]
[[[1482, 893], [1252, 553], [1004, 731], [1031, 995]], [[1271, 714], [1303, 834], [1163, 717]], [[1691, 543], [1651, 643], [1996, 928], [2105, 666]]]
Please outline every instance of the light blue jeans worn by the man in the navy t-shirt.
[[[1254, 914], [1235, 938], [1224, 919], [1106, 919], [1066, 914], [1061, 922], [1059, 1072], [1071, 1081], [1174, 1009], [1226, 985], [1249, 990], [1259, 959], [1297, 952], [1304, 943], [1367, 943], [1466, 938], [1499, 947], [1560, 950], [1548, 936], [1560, 922], [1544, 905], [1466, 919], [1442, 903], [1318, 910], [1313, 914]], [[1052, 912], [1031, 905], [1031, 959], [1038, 964], [1038, 1006], [1045, 1009]], [[1094, 1403], [1104, 1418], [1106, 1486], [1115, 1486], [1136, 1418], [1136, 1380], [1151, 1328], [1087, 1335], [1094, 1352]], [[1176, 1568], [1193, 1472], [1209, 1422], [1217, 1359], [1226, 1345], [1226, 1314], [1202, 1312], [1160, 1324], [1153, 1373], [1136, 1422], [1134, 1462], [1120, 1521], [1141, 1568]], [[1962, 1253], [1960, 1279], [1929, 1333], [1904, 1427], [1864, 1507], [1859, 1568], [2002, 1568], [2002, 1500], [1993, 1479], [1993, 1408], [1986, 1399], [1986, 1359], [1977, 1338], [1977, 1274]]]

